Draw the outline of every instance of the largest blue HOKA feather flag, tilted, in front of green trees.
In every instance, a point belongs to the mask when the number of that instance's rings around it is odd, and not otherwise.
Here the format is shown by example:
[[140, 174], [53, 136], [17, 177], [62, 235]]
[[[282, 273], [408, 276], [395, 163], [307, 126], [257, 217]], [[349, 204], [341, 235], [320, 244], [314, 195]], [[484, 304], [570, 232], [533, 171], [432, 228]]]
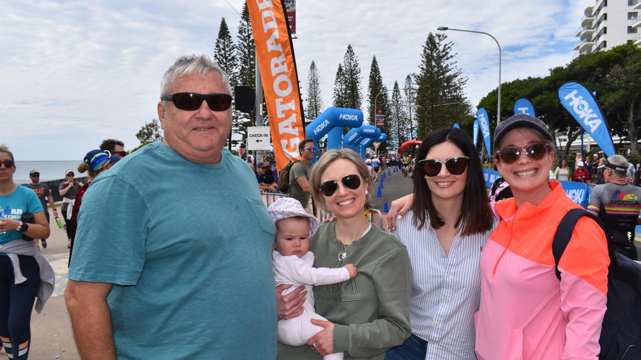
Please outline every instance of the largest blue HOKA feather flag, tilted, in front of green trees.
[[581, 83], [570, 81], [559, 88], [561, 104], [581, 124], [607, 156], [614, 155], [612, 136], [594, 95]]

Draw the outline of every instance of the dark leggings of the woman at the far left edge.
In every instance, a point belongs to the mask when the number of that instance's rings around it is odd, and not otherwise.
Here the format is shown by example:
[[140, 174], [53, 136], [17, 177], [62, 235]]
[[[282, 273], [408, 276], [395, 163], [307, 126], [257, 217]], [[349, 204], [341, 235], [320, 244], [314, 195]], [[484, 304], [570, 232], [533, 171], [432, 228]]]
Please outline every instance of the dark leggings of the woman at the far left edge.
[[[31, 309], [40, 286], [40, 268], [33, 256], [19, 255], [22, 275], [15, 284], [13, 266], [8, 256], [0, 255], [0, 340], [9, 359], [29, 356]], [[9, 306], [11, 304], [11, 306]]]

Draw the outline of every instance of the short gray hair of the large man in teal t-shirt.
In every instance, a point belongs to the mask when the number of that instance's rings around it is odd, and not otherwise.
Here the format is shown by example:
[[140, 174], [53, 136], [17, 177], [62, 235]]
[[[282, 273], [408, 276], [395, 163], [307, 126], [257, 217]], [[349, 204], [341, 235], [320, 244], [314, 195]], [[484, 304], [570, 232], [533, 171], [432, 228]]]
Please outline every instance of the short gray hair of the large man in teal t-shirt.
[[[174, 65], [171, 65], [171, 67], [167, 69], [162, 77], [162, 81], [160, 81], [160, 96], [169, 95], [169, 86], [176, 78], [197, 72], [201, 78], [204, 79], [210, 70], [215, 70], [221, 74], [222, 84], [227, 89], [228, 94], [231, 95], [229, 76], [221, 69], [220, 65], [218, 65], [216, 61], [213, 61], [207, 54], [191, 54], [179, 57], [176, 59], [176, 62], [174, 62]], [[163, 104], [164, 103], [165, 101], [163, 100]]]

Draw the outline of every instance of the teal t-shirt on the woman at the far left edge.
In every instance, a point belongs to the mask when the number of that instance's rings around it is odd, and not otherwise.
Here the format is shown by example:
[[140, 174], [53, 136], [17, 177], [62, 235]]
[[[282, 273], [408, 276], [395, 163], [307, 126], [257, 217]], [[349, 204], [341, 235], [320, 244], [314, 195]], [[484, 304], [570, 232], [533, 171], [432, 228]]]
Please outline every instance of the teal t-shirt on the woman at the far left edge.
[[[0, 195], [0, 217], [20, 220], [24, 213], [42, 213], [42, 204], [33, 190], [18, 185], [9, 195]], [[0, 232], [3, 232], [0, 230]], [[12, 240], [22, 239], [22, 233], [15, 230], [4, 231], [0, 234], [0, 244], [4, 245]]]

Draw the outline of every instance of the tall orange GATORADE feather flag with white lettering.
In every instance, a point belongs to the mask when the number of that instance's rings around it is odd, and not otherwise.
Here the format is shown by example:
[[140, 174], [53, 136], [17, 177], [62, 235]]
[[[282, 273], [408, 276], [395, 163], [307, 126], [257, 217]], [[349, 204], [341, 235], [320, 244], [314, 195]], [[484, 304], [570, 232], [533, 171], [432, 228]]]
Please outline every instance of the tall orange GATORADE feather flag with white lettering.
[[294, 49], [281, 0], [247, 0], [278, 170], [300, 159], [303, 110]]

